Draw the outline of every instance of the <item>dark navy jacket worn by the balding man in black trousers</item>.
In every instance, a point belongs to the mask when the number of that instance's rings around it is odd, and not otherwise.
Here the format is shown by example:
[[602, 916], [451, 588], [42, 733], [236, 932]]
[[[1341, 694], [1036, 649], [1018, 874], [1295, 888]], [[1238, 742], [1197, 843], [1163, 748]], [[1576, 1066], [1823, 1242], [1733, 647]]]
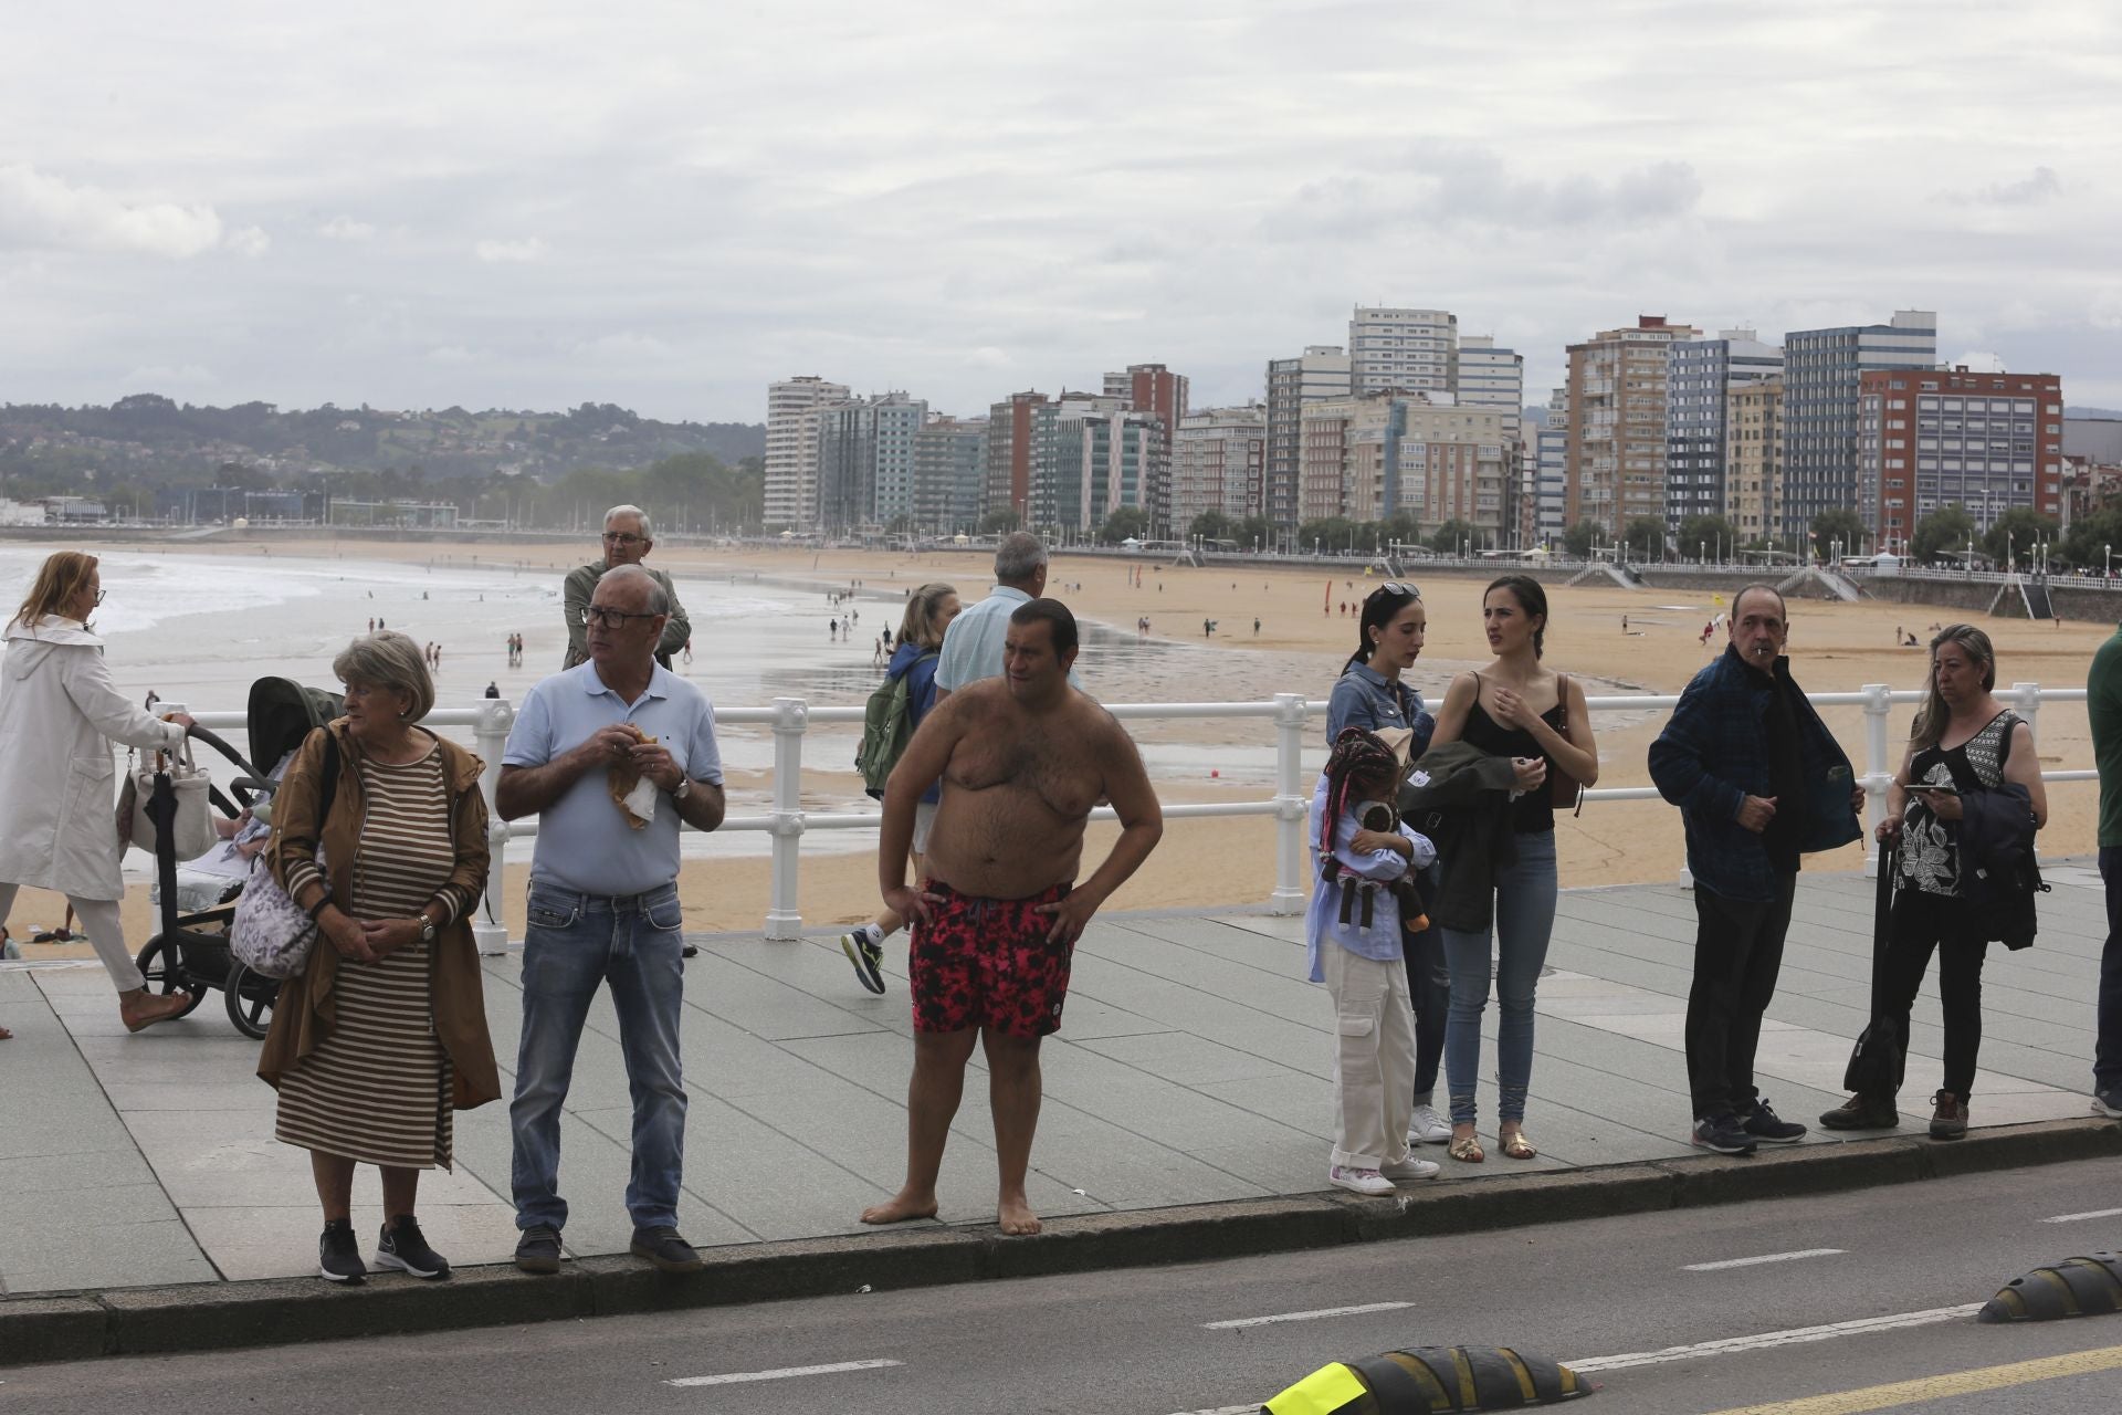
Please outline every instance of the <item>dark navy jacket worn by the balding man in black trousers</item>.
[[1806, 798], [1778, 802], [1804, 810], [1797, 849], [1831, 851], [1863, 834], [1850, 810], [1850, 759], [1806, 696], [1791, 683], [1791, 660], [1776, 660], [1774, 683], [1746, 666], [1738, 649], [1698, 672], [1672, 709], [1672, 721], [1651, 743], [1651, 781], [1687, 821], [1687, 870], [1727, 899], [1761, 904], [1776, 897], [1776, 870], [1757, 832], [1738, 823], [1749, 796], [1768, 796], [1768, 704], [1791, 692]]

